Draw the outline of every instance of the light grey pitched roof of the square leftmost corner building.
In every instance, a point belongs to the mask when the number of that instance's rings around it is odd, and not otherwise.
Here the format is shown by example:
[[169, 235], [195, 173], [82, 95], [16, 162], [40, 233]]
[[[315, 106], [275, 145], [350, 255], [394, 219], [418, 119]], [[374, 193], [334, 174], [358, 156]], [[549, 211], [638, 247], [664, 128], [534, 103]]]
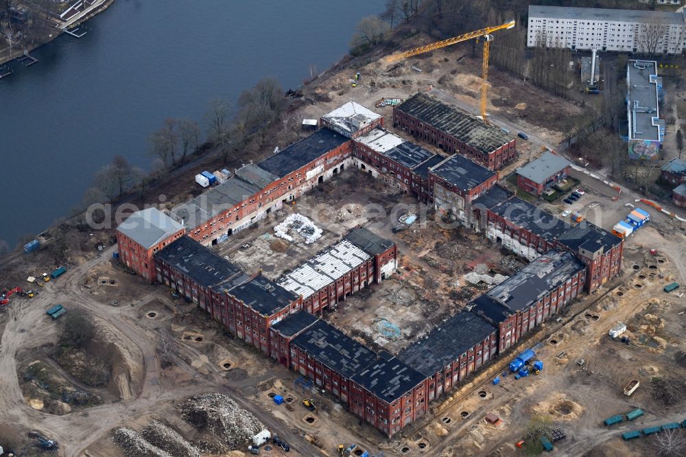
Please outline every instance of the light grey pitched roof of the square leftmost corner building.
[[117, 231], [150, 249], [183, 229], [183, 226], [156, 208], [136, 211], [117, 227]]

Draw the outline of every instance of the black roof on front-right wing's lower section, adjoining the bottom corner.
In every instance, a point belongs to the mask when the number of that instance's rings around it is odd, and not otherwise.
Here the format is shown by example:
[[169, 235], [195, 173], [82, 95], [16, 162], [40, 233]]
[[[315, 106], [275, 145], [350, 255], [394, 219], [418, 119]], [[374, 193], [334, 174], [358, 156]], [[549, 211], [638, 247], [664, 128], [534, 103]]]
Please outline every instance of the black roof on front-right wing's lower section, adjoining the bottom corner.
[[404, 349], [398, 358], [429, 377], [486, 340], [495, 330], [475, 314], [458, 312]]

